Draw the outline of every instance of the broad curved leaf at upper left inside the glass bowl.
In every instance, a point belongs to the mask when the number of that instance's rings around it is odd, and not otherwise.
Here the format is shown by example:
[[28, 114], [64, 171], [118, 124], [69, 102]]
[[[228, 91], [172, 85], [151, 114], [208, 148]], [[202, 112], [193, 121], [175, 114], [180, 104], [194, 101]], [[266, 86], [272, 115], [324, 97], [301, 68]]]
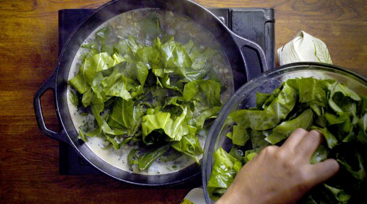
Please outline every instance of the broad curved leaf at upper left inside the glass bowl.
[[239, 110], [231, 113], [229, 117], [236, 123], [253, 130], [271, 129], [292, 111], [296, 99], [296, 91], [285, 83], [278, 96], [265, 110]]

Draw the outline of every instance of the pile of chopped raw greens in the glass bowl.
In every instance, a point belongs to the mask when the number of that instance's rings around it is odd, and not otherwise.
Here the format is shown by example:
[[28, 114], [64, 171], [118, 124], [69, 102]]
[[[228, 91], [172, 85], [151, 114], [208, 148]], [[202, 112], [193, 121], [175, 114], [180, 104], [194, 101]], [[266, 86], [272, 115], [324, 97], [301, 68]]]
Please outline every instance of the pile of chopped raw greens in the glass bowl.
[[207, 190], [217, 200], [241, 167], [268, 145], [281, 145], [297, 128], [320, 130], [325, 142], [310, 163], [336, 159], [339, 172], [311, 189], [300, 203], [367, 200], [367, 97], [335, 80], [289, 79], [271, 94], [257, 92], [256, 107], [234, 111], [226, 135], [233, 146], [214, 154]]

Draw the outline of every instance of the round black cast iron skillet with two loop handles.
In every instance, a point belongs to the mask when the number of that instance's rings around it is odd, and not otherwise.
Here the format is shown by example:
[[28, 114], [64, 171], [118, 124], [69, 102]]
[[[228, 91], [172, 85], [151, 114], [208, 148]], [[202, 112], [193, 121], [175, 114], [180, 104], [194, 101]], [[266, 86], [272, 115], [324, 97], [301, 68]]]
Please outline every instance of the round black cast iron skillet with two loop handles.
[[[187, 15], [191, 17], [192, 20], [206, 28], [208, 32], [211, 32], [216, 37], [230, 62], [234, 77], [235, 90], [240, 88], [257, 73], [268, 70], [264, 52], [257, 44], [235, 35], [232, 31], [226, 28], [226, 26], [214, 14], [197, 3], [189, 0], [112, 1], [97, 9], [93, 15], [80, 25], [80, 27], [66, 42], [66, 45], [60, 54], [55, 71], [35, 94], [34, 108], [36, 119], [42, 133], [71, 145], [78, 154], [80, 154], [91, 165], [117, 180], [143, 186], [178, 184], [198, 175], [200, 173], [200, 167], [195, 164], [180, 171], [162, 175], [141, 175], [118, 169], [101, 160], [87, 147], [87, 145], [76, 138], [78, 134], [71, 121], [67, 106], [66, 91], [68, 74], [74, 56], [83, 41], [91, 32], [99, 27], [100, 24], [108, 19], [123, 12], [141, 8], [158, 8]], [[258, 55], [258, 59], [244, 59], [241, 49], [245, 46], [255, 50]], [[259, 61], [260, 66], [249, 68], [246, 65], [246, 60]], [[48, 89], [51, 89], [54, 92], [55, 108], [59, 119], [60, 132], [54, 132], [47, 129], [42, 116], [40, 97]]]

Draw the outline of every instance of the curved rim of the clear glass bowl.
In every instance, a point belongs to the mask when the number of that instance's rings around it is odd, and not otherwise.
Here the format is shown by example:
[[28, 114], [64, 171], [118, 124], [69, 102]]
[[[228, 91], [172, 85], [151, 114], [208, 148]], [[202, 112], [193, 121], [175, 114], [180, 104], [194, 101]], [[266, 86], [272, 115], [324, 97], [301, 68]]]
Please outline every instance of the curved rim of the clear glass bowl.
[[207, 192], [207, 182], [209, 181], [209, 177], [212, 173], [213, 152], [215, 148], [217, 148], [219, 138], [218, 135], [222, 132], [223, 124], [227, 120], [227, 116], [231, 113], [231, 111], [235, 107], [237, 107], [242, 102], [242, 100], [247, 95], [249, 95], [249, 93], [251, 93], [255, 88], [257, 88], [264, 80], [273, 79], [279, 77], [279, 75], [284, 75], [289, 72], [298, 72], [305, 70], [326, 71], [344, 75], [346, 78], [352, 79], [352, 81], [364, 85], [367, 90], [367, 79], [362, 75], [344, 67], [317, 62], [297, 62], [292, 64], [286, 64], [283, 66], [279, 66], [275, 69], [271, 69], [267, 72], [264, 72], [255, 77], [254, 79], [248, 81], [241, 88], [235, 91], [235, 93], [224, 104], [223, 108], [221, 109], [221, 111], [217, 116], [217, 119], [214, 121], [211, 129], [209, 130], [207, 138], [205, 140], [204, 155], [202, 159], [202, 184], [204, 188], [204, 196], [206, 203], [213, 203], [213, 200], [209, 198]]

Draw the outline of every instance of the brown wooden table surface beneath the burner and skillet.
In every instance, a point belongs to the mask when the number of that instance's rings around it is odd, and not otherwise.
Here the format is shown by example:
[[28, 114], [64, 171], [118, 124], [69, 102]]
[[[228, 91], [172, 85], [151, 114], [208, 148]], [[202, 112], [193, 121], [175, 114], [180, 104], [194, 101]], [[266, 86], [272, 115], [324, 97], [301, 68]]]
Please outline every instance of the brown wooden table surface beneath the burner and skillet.
[[[58, 10], [103, 1], [0, 2], [0, 203], [179, 203], [189, 188], [140, 188], [106, 175], [59, 175], [58, 141], [38, 129], [33, 96], [58, 61]], [[304, 30], [323, 40], [335, 65], [367, 77], [365, 0], [197, 0], [205, 7], [275, 9], [276, 48]], [[57, 130], [51, 92], [42, 97]]]

